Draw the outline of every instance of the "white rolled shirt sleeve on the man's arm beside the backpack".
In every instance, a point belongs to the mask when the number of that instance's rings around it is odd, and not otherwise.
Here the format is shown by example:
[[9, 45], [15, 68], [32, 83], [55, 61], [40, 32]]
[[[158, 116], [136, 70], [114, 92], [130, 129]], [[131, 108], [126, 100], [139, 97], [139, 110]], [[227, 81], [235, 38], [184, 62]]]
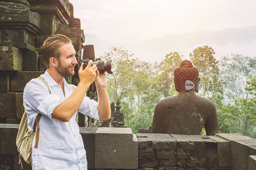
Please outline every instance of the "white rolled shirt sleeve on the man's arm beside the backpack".
[[23, 104], [28, 119], [31, 109], [52, 119], [52, 112], [60, 103], [62, 103], [60, 97], [50, 94], [44, 82], [39, 79], [30, 80], [24, 88]]

